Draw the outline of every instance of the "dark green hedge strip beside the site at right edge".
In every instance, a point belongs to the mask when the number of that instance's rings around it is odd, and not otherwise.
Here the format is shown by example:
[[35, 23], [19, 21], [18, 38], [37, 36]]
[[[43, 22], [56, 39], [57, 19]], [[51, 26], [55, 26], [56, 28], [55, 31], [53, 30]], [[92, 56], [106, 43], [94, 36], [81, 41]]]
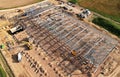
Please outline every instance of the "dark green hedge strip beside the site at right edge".
[[106, 19], [97, 17], [92, 20], [93, 23], [105, 28], [109, 32], [120, 37], [120, 25], [114, 24]]

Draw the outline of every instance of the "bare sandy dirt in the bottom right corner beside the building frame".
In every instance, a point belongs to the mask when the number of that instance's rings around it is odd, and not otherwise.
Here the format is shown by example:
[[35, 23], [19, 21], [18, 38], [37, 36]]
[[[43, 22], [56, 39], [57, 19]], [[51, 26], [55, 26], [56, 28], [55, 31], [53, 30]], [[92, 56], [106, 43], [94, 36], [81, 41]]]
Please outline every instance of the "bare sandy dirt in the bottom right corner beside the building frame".
[[110, 54], [98, 77], [120, 77], [120, 45]]

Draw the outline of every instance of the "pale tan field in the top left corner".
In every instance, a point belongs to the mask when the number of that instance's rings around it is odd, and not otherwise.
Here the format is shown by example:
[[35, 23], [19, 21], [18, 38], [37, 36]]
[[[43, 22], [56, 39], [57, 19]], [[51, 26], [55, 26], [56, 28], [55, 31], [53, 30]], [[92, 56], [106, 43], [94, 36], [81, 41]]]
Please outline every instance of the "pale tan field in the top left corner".
[[0, 9], [16, 8], [40, 2], [43, 0], [0, 0]]

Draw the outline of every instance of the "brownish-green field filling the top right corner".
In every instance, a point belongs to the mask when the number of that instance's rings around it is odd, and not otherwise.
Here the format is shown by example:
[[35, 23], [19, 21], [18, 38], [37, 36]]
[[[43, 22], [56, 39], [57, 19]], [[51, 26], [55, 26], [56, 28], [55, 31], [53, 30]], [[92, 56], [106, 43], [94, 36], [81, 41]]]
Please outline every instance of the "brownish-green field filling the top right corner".
[[78, 0], [78, 4], [120, 22], [120, 0]]

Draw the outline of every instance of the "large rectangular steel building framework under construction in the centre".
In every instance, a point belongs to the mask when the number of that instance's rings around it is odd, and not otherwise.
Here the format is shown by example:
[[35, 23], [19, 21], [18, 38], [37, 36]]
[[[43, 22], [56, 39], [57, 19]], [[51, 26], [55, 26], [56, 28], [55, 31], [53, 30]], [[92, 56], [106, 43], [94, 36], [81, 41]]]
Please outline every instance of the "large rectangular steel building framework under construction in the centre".
[[[67, 74], [76, 69], [83, 73], [94, 72], [117, 44], [114, 39], [96, 32], [58, 6], [49, 4], [38, 9], [17, 22], [26, 25], [25, 31], [37, 47], [54, 59], [62, 58], [58, 66]], [[76, 56], [71, 54], [73, 50]]]

